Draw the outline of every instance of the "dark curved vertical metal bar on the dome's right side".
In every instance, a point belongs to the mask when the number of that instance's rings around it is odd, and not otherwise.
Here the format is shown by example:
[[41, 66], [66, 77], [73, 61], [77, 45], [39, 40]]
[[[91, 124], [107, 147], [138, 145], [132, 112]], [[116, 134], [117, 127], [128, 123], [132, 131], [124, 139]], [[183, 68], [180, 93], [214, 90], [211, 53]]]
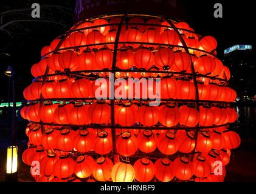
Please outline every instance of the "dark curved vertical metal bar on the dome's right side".
[[[184, 39], [182, 38], [181, 33], [179, 33], [179, 30], [176, 28], [176, 26], [172, 22], [168, 21], [167, 18], [165, 18], [164, 16], [163, 16], [163, 18], [165, 19], [165, 21], [168, 22], [168, 24], [173, 28], [173, 30], [175, 30], [175, 32], [178, 33], [179, 39], [180, 39], [180, 41], [181, 41], [181, 43], [182, 43], [182, 45], [183, 45], [183, 47], [185, 49], [185, 52], [190, 55], [189, 49], [187, 48], [187, 44], [185, 43]], [[191, 58], [191, 70], [192, 70], [192, 73], [193, 73], [193, 82], [194, 82], [195, 90], [196, 90], [196, 110], [198, 110], [198, 112], [199, 112], [198, 84], [197, 84], [197, 81], [196, 81], [196, 73], [195, 73], [195, 68], [194, 68], [194, 65], [193, 65], [192, 58]], [[195, 150], [196, 150], [196, 142], [197, 142], [197, 139], [198, 139], [198, 131], [199, 131], [199, 124], [196, 125], [196, 127], [195, 127], [195, 149], [192, 152], [195, 152]], [[192, 154], [190, 156], [190, 160], [193, 160], [193, 158], [194, 158], [194, 155]]]

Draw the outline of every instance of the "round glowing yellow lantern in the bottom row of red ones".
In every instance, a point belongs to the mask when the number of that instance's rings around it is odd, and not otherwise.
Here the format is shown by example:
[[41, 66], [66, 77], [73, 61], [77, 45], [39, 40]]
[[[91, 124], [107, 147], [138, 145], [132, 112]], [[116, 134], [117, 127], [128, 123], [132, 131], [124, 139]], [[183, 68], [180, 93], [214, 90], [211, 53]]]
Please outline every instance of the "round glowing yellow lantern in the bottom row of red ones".
[[111, 170], [111, 179], [113, 182], [133, 182], [134, 169], [127, 162], [117, 162]]

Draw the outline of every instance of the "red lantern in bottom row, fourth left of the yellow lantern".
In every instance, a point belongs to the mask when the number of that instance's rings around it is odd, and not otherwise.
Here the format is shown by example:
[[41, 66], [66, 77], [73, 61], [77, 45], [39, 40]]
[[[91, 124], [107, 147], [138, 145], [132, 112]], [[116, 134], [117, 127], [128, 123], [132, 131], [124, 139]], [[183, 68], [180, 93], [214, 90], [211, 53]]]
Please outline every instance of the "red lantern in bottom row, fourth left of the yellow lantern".
[[57, 157], [55, 153], [48, 153], [44, 158], [40, 161], [40, 173], [44, 176], [52, 176], [54, 175], [54, 164], [57, 161]]

